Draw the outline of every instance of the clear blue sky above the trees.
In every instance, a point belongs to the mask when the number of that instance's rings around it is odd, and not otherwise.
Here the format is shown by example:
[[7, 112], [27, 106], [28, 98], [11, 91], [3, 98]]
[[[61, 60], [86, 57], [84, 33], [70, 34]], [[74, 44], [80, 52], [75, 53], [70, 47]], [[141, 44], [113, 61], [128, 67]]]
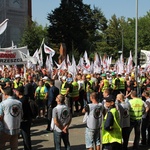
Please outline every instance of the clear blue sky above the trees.
[[[137, 0], [83, 0], [84, 4], [101, 9], [107, 20], [114, 14], [117, 17], [136, 17]], [[32, 19], [39, 25], [49, 25], [48, 13], [60, 6], [60, 0], [32, 0]], [[143, 17], [150, 11], [150, 0], [138, 0], [138, 17]]]

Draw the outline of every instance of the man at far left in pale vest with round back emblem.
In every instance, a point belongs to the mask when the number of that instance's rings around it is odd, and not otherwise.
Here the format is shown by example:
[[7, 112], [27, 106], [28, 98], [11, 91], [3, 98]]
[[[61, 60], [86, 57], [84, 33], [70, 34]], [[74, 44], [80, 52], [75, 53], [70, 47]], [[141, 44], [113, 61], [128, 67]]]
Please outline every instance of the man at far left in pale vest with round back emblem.
[[22, 119], [22, 103], [12, 98], [12, 89], [4, 89], [4, 100], [0, 103], [0, 118], [3, 130], [0, 136], [0, 150], [6, 150], [6, 142], [10, 142], [12, 150], [18, 149], [18, 134]]

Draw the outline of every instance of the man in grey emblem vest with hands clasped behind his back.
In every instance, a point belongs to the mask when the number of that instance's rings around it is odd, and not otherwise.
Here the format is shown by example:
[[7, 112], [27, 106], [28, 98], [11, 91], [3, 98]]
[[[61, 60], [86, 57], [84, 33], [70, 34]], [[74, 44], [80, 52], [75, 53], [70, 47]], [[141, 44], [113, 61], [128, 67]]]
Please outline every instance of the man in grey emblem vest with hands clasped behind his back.
[[[59, 94], [56, 97], [57, 106], [53, 109], [52, 117], [54, 121], [54, 145], [55, 149], [61, 149], [61, 139], [63, 139], [65, 149], [70, 150], [69, 142], [69, 125], [71, 123], [71, 115], [69, 108], [64, 103], [65, 97]], [[51, 125], [52, 127], [52, 125]]]

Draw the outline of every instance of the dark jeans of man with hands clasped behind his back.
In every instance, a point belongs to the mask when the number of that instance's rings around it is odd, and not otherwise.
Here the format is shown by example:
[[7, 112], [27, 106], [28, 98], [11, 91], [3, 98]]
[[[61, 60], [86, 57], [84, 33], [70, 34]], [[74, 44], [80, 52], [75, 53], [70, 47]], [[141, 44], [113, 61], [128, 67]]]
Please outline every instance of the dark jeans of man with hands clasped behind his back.
[[61, 150], [61, 139], [64, 142], [65, 150], [70, 150], [69, 133], [54, 130], [54, 145], [56, 150]]

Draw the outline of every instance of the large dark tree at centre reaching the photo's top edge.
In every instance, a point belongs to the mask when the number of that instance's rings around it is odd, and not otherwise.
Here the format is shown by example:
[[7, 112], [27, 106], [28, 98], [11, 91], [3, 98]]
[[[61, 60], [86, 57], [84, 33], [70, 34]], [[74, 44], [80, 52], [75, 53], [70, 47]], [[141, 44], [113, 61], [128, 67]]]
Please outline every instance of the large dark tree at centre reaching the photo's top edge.
[[49, 37], [54, 43], [65, 43], [67, 53], [83, 53], [90, 47], [97, 30], [104, 30], [107, 20], [102, 12], [82, 0], [61, 0], [59, 8], [48, 14]]

